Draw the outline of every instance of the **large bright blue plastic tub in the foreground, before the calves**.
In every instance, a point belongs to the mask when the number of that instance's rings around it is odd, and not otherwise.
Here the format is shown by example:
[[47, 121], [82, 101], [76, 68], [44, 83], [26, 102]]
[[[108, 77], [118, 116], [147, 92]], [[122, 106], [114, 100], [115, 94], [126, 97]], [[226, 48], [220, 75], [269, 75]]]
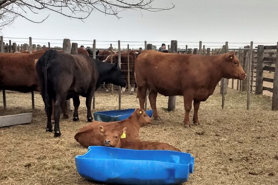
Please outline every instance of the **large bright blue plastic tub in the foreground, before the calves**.
[[75, 165], [80, 176], [99, 183], [180, 184], [193, 173], [194, 157], [177, 151], [90, 146], [75, 157]]

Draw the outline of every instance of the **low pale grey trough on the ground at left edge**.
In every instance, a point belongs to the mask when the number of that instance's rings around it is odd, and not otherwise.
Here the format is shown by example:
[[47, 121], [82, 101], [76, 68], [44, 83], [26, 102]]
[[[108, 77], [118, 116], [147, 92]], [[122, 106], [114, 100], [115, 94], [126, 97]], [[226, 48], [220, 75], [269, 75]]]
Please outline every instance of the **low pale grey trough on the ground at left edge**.
[[0, 116], [0, 127], [31, 123], [32, 113]]

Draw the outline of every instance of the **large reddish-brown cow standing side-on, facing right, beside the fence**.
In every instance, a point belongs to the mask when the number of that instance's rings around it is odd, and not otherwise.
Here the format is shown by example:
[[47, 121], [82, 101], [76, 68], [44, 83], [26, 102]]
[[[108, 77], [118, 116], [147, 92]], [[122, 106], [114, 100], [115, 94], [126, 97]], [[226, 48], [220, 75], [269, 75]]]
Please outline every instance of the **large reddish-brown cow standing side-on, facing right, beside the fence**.
[[144, 109], [146, 91], [155, 120], [161, 120], [156, 110], [157, 93], [164, 96], [183, 96], [184, 127], [190, 128], [189, 112], [194, 104], [193, 124], [199, 125], [198, 110], [201, 101], [213, 94], [221, 78], [243, 80], [246, 77], [235, 53], [201, 56], [192, 54], [142, 52], [135, 63], [137, 98]]

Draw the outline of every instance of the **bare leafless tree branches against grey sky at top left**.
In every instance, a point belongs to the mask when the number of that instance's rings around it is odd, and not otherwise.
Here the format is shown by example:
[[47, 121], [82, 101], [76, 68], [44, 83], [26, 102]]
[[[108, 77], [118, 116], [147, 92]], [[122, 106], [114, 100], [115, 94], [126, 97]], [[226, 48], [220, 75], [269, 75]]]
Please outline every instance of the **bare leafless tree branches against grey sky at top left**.
[[[90, 16], [93, 11], [99, 11], [107, 15], [114, 15], [118, 19], [119, 12], [127, 9], [140, 9], [150, 12], [169, 10], [175, 7], [172, 3], [170, 8], [153, 8], [152, 2], [155, 0], [0, 0], [0, 30], [13, 23], [16, 17], [41, 23], [49, 15], [40, 21], [31, 20], [27, 17], [27, 11], [31, 14], [38, 14], [42, 10], [51, 10], [69, 18], [82, 20]], [[22, 12], [20, 12], [20, 10]], [[30, 12], [28, 13], [30, 16]], [[2, 23], [1, 23], [2, 20]]]

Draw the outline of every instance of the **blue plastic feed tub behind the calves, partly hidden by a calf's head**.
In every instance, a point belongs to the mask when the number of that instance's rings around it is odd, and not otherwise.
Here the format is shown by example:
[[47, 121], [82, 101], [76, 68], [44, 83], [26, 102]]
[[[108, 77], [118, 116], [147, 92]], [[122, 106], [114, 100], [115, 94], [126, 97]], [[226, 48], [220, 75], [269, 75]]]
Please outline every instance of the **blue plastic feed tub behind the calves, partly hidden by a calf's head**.
[[[128, 118], [134, 111], [135, 109], [94, 112], [93, 117], [99, 122], [116, 122]], [[152, 110], [147, 110], [146, 113], [152, 117]]]

